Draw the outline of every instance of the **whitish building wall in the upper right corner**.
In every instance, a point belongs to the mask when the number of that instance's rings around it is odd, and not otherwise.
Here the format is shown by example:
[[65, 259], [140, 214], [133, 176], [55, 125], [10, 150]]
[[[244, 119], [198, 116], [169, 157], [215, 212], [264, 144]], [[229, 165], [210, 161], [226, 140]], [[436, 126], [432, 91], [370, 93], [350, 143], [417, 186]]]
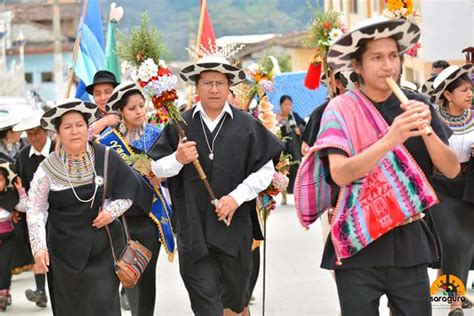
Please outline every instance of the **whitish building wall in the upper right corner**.
[[422, 0], [422, 58], [462, 60], [474, 45], [474, 0]]

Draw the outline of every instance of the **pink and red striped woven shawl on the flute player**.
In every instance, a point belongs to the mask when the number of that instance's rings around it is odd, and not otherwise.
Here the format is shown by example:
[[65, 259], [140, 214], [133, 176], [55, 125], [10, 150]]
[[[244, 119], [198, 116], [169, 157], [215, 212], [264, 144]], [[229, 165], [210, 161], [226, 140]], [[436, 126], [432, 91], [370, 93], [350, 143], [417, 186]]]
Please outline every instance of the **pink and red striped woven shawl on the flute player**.
[[[328, 166], [321, 150], [338, 148], [348, 157], [379, 140], [388, 124], [359, 91], [334, 98], [321, 121], [315, 145], [301, 164], [295, 182], [296, 211], [308, 228], [331, 205]], [[365, 177], [341, 187], [331, 236], [338, 260], [349, 258], [405, 219], [438, 203], [425, 174], [399, 145]]]

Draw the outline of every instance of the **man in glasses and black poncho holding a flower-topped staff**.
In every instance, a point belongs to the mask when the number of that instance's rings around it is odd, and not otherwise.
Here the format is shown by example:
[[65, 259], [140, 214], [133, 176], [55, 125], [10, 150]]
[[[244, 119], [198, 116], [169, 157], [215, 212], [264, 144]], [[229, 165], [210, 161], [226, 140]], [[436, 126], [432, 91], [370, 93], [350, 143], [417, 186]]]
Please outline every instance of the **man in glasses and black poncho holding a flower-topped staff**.
[[[257, 120], [227, 102], [229, 86], [245, 73], [221, 57], [204, 57], [181, 78], [196, 85], [200, 102], [183, 113], [189, 142], [167, 126], [149, 152], [157, 177], [170, 178], [177, 216], [180, 271], [196, 315], [248, 313], [255, 198], [270, 183], [281, 142]], [[219, 199], [210, 203], [189, 164], [199, 157]]]

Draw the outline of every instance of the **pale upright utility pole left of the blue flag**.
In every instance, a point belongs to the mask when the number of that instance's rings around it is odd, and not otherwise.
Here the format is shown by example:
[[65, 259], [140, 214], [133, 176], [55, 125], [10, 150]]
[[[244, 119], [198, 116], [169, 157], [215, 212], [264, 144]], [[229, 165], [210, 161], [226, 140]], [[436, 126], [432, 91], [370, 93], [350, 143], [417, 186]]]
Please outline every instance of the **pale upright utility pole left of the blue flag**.
[[61, 47], [61, 11], [59, 0], [53, 0], [54, 86], [56, 99], [64, 95], [63, 59]]

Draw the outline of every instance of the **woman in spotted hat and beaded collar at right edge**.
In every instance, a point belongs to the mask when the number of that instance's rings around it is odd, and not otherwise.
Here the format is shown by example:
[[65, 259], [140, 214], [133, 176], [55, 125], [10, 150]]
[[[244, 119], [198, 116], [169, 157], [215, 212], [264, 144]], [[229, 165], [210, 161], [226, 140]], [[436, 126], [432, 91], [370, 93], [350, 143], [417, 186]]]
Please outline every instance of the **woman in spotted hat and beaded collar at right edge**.
[[[474, 117], [471, 110], [472, 91], [469, 75], [472, 65], [450, 66], [433, 82], [431, 101], [438, 106], [442, 120], [453, 131], [449, 145], [461, 163], [461, 172], [448, 179], [435, 170], [433, 186], [440, 204], [431, 209], [431, 216], [441, 244], [442, 274], [453, 275], [464, 284], [474, 259]], [[465, 300], [451, 303], [449, 315], [464, 315], [472, 303]], [[468, 304], [466, 304], [468, 303]]]

